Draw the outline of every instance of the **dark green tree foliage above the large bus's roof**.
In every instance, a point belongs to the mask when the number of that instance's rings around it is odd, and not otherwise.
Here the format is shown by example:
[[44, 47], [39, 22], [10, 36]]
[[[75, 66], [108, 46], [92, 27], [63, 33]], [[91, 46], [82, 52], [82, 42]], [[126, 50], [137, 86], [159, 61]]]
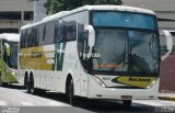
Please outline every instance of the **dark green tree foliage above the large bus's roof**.
[[57, 13], [59, 11], [72, 10], [85, 4], [122, 4], [121, 0], [47, 0], [44, 7], [47, 13]]

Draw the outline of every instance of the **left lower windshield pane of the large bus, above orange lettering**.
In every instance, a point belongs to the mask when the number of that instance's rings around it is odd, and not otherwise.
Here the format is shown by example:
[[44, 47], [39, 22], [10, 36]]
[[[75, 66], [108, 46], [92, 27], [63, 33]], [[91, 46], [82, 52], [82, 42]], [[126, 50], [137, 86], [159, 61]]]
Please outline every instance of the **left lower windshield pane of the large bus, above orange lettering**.
[[127, 71], [128, 41], [126, 31], [96, 30], [94, 54], [100, 57], [93, 58], [95, 70]]

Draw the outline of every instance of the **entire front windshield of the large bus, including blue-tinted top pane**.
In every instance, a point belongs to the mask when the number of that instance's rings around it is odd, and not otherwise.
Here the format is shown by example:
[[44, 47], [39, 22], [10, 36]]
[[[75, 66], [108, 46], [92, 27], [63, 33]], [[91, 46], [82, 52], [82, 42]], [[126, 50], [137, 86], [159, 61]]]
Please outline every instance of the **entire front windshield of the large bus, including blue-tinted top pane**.
[[159, 35], [154, 21], [152, 15], [138, 13], [93, 12], [93, 54], [98, 55], [92, 58], [93, 70], [158, 74]]

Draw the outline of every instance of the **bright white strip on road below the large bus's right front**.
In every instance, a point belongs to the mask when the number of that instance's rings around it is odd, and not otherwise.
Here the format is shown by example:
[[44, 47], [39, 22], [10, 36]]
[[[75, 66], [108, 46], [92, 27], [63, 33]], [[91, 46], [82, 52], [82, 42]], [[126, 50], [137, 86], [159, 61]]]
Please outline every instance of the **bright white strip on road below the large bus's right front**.
[[151, 106], [163, 106], [164, 104], [159, 103], [159, 101], [147, 101], [147, 100], [135, 100], [135, 103], [145, 104]]

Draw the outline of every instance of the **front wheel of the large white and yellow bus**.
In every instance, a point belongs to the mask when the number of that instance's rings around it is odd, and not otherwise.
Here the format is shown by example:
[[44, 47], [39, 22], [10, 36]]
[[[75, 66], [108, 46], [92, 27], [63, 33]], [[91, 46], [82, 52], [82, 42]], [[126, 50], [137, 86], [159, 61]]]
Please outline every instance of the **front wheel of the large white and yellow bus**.
[[73, 80], [70, 79], [67, 87], [67, 98], [71, 105], [75, 105], [75, 97], [73, 95]]

